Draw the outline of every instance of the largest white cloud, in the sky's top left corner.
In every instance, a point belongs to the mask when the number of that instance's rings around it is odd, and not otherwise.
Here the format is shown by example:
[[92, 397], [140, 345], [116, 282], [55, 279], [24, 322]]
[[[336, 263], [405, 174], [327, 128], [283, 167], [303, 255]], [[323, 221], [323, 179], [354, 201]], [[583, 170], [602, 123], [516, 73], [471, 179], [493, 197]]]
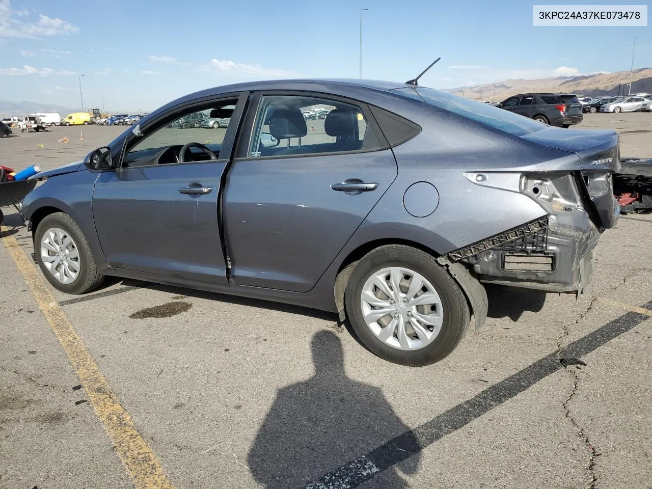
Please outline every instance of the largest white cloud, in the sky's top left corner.
[[9, 0], [0, 0], [0, 38], [38, 38], [66, 35], [80, 30], [70, 22], [46, 15], [39, 15], [37, 22], [22, 20], [29, 15], [24, 8], [12, 10]]

